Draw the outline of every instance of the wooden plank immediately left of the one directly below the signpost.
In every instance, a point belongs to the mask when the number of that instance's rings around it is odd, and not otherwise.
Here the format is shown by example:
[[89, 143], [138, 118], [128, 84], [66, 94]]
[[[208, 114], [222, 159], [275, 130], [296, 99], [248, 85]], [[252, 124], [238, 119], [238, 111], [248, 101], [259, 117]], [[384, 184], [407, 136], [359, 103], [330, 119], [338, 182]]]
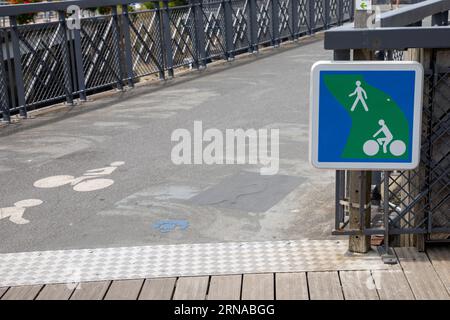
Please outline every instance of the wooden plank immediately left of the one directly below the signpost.
[[341, 283], [336, 271], [308, 272], [309, 298], [311, 300], [343, 300]]

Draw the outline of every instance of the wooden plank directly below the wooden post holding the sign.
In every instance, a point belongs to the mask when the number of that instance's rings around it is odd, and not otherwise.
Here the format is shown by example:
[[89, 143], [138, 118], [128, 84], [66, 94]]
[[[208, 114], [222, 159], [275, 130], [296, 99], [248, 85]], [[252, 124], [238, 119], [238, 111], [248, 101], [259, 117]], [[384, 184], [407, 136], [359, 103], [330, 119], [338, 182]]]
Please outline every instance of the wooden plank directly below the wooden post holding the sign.
[[379, 299], [370, 271], [341, 271], [339, 276], [345, 300]]

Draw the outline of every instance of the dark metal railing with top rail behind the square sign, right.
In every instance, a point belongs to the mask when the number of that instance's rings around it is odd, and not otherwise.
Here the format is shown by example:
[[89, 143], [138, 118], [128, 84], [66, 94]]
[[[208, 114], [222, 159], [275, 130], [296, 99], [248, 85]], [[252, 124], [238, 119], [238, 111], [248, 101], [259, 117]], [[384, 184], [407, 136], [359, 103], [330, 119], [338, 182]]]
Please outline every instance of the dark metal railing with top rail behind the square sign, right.
[[[375, 59], [414, 59], [425, 70], [421, 162], [417, 169], [382, 172], [373, 183], [381, 190], [380, 211], [372, 210], [370, 227], [349, 229], [348, 176], [336, 172], [334, 234], [392, 235], [397, 245], [450, 240], [450, 1], [429, 0], [381, 16], [384, 27], [339, 27], [325, 33], [325, 48], [337, 60], [351, 50], [366, 50]], [[431, 27], [421, 27], [431, 17]], [[380, 173], [373, 173], [377, 176]], [[376, 199], [378, 198], [378, 199]], [[376, 193], [372, 201], [379, 200]], [[415, 235], [415, 236], [412, 236]]]

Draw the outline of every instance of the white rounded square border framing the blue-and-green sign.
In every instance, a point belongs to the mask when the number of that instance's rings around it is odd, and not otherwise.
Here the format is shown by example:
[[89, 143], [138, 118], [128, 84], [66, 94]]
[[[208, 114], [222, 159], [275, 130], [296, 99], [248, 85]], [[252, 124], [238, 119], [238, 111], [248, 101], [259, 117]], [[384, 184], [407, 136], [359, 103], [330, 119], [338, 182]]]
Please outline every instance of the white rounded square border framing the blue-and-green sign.
[[[319, 162], [319, 93], [321, 71], [415, 71], [411, 162]], [[311, 67], [309, 101], [309, 161], [318, 169], [412, 170], [420, 161], [423, 66], [415, 61], [318, 61]]]

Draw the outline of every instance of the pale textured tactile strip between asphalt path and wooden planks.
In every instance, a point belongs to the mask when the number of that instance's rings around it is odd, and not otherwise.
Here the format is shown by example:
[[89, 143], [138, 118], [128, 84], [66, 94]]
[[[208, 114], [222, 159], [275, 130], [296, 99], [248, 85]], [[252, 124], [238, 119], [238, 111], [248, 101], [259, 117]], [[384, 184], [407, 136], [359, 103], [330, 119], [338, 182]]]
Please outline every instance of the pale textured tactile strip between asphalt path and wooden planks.
[[347, 241], [298, 240], [153, 245], [0, 254], [0, 287], [263, 272], [385, 269]]

